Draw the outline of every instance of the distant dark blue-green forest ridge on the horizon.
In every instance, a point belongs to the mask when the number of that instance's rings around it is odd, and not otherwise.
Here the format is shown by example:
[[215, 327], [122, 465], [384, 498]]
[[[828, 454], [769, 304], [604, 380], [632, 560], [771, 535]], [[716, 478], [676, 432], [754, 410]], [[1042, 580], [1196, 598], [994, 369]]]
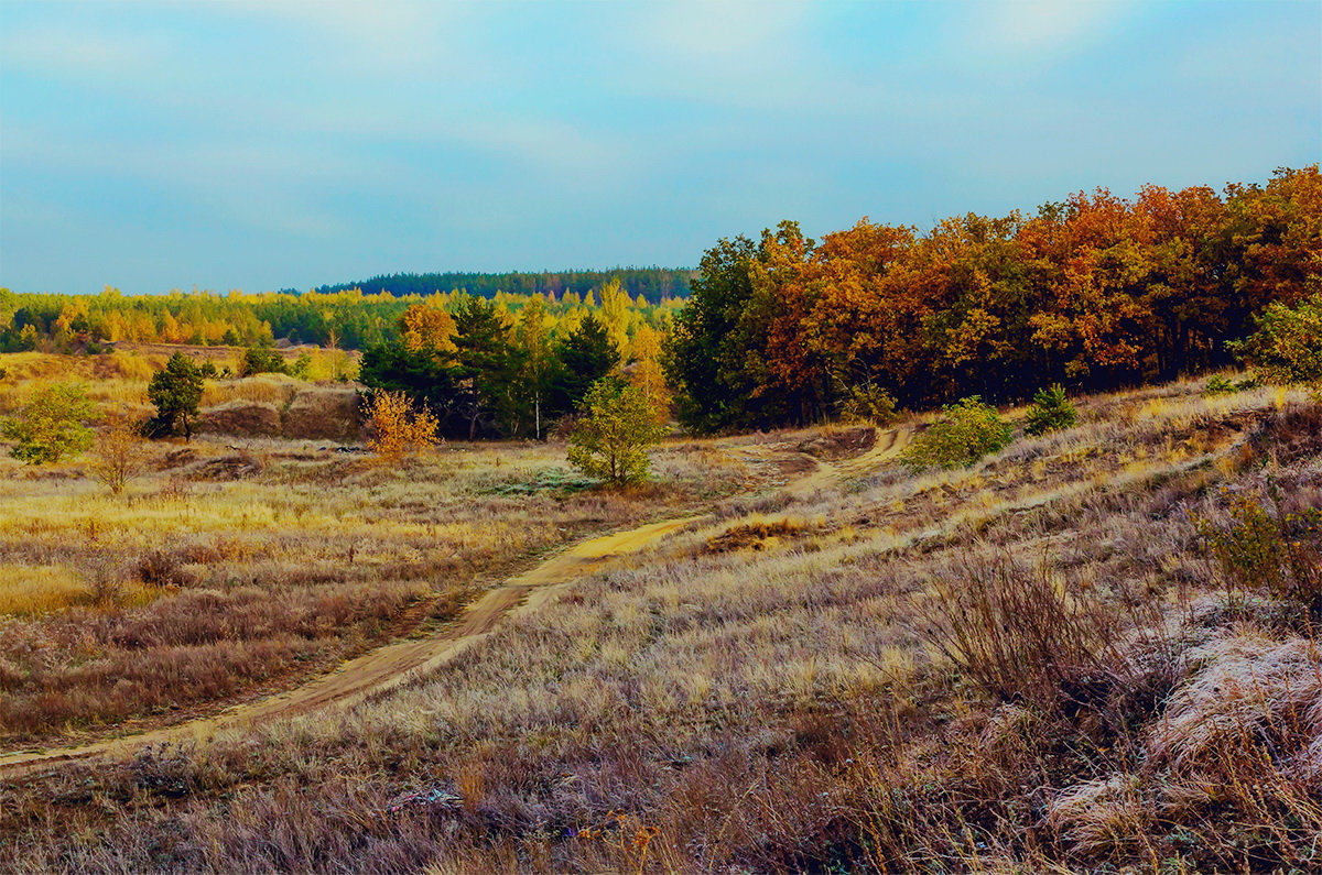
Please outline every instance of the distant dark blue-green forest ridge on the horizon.
[[317, 292], [346, 292], [361, 289], [366, 295], [432, 295], [435, 292], [468, 292], [479, 297], [493, 297], [498, 292], [512, 295], [554, 295], [566, 292], [587, 295], [615, 278], [631, 297], [640, 295], [652, 304], [689, 293], [689, 280], [694, 271], [669, 267], [619, 267], [609, 271], [514, 271], [509, 274], [391, 274], [373, 276], [356, 283], [319, 285]]

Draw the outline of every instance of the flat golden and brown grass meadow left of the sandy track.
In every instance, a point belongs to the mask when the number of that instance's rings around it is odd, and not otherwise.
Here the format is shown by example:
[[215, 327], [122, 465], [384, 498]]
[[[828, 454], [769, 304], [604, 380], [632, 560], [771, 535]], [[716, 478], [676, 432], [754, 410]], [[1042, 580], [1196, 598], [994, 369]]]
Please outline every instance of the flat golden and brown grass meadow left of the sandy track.
[[[53, 379], [52, 358], [0, 357], [11, 374], [36, 371], [12, 395]], [[108, 403], [143, 390], [119, 367], [75, 375]], [[204, 422], [260, 410], [272, 387], [317, 403], [353, 393], [215, 381]], [[657, 464], [664, 486], [599, 493], [561, 447], [446, 444], [386, 467], [354, 444], [229, 431], [151, 445], [144, 476], [114, 496], [87, 459], [3, 457], [0, 745], [168, 724], [290, 686], [446, 623], [549, 550], [758, 476], [719, 453], [665, 448]]]

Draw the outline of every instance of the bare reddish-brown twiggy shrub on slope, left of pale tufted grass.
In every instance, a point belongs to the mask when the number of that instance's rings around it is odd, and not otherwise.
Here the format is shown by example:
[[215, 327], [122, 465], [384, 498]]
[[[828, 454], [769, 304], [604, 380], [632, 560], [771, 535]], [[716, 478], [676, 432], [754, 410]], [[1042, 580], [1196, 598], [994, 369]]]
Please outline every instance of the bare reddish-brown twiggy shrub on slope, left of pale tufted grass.
[[919, 632], [993, 698], [1048, 704], [1104, 691], [1116, 617], [1067, 595], [1046, 567], [965, 556], [931, 596]]

